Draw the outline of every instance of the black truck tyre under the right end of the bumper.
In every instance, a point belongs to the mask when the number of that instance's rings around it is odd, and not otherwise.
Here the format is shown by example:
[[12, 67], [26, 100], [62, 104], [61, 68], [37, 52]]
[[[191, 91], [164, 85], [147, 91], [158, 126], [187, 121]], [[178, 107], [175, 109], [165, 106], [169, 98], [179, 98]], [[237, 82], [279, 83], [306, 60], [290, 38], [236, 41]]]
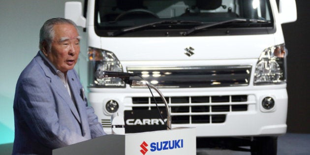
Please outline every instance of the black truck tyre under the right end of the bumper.
[[251, 142], [251, 155], [277, 155], [278, 137], [255, 137]]

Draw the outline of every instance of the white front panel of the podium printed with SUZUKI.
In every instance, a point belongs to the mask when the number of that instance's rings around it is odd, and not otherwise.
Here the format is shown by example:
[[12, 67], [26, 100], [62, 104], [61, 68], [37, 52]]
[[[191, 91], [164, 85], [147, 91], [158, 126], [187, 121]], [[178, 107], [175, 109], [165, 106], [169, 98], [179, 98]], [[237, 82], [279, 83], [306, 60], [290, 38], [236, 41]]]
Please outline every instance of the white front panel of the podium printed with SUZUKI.
[[196, 155], [195, 128], [127, 134], [125, 155]]

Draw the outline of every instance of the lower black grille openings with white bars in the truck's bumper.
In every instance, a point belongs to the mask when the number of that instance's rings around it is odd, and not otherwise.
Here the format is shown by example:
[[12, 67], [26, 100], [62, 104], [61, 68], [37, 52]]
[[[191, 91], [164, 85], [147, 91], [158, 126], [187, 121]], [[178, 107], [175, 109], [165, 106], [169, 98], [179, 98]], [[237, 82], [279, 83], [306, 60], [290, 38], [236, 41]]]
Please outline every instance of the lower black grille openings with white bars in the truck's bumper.
[[[160, 97], [155, 97], [159, 108], [165, 108]], [[248, 111], [248, 95], [177, 96], [166, 97], [172, 124], [224, 123], [226, 114]], [[153, 97], [132, 97], [132, 110], [156, 108]], [[165, 111], [165, 110], [164, 110]]]

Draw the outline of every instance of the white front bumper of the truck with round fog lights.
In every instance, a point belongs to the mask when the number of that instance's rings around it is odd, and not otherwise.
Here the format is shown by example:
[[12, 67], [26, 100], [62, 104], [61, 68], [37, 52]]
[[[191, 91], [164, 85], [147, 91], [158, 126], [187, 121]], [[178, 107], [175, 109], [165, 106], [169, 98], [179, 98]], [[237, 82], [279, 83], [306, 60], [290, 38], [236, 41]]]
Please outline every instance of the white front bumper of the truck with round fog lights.
[[[286, 132], [287, 116], [287, 92], [286, 85], [279, 86], [250, 86], [251, 89], [243, 90], [244, 87], [234, 88], [208, 88], [208, 89], [162, 89], [161, 92], [167, 97], [172, 116], [172, 128], [195, 127], [197, 137], [227, 137], [227, 136], [262, 136], [280, 135]], [[228, 100], [221, 97], [228, 96]], [[246, 100], [234, 100], [235, 96], [246, 96]], [[111, 133], [111, 115], [105, 110], [105, 104], [109, 100], [115, 100], [120, 107], [118, 112], [124, 114], [124, 110], [132, 110], [135, 107], [154, 107], [155, 104], [135, 104], [134, 98], [151, 98], [147, 89], [91, 89], [89, 93], [90, 104], [101, 121], [104, 130]], [[158, 97], [155, 94], [155, 97]], [[174, 103], [174, 98], [188, 97], [188, 103]], [[195, 97], [209, 97], [206, 102], [193, 102]], [[262, 100], [272, 97], [275, 106], [269, 110], [264, 109]], [[214, 101], [213, 98], [220, 98]], [[238, 97], [237, 97], [238, 98]], [[150, 100], [150, 99], [149, 99]], [[163, 104], [158, 104], [163, 106]], [[183, 107], [183, 111], [176, 111], [177, 107]], [[184, 111], [184, 107], [187, 107]], [[196, 107], [207, 110], [197, 110]], [[234, 110], [237, 107], [237, 110]], [[238, 109], [238, 107], [241, 107]], [[193, 110], [196, 109], [196, 110]], [[199, 109], [199, 108], [198, 108]], [[174, 118], [186, 118], [174, 123]], [[194, 119], [201, 118], [204, 121]], [[220, 116], [220, 119], [218, 117]], [[188, 117], [188, 120], [187, 120]], [[208, 119], [209, 118], [209, 119]], [[125, 124], [126, 125], [126, 124]]]

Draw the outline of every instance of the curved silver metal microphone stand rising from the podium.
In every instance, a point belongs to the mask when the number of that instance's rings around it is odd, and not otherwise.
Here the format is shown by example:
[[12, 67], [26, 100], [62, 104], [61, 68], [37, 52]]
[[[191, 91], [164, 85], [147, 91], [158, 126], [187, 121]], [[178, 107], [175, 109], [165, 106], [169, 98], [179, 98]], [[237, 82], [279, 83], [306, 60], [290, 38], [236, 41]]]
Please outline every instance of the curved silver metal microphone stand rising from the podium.
[[166, 111], [167, 111], [167, 130], [171, 129], [171, 116], [170, 116], [170, 110], [169, 110], [169, 106], [168, 103], [164, 97], [164, 95], [152, 84], [144, 84], [141, 81], [132, 81], [132, 86], [149, 86], [151, 88], [153, 88], [161, 97], [161, 99], [164, 101], [165, 103], [165, 107], [166, 107]]

